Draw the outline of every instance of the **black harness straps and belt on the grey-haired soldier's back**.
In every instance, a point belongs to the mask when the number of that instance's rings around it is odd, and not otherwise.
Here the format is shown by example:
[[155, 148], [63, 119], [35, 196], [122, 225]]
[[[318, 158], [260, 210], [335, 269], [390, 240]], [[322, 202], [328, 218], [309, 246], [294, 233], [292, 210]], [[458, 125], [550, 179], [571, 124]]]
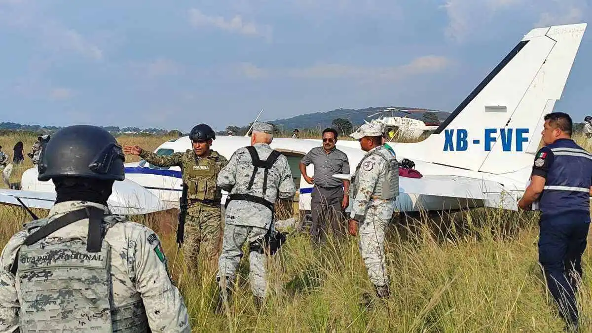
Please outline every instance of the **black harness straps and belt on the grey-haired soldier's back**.
[[251, 187], [253, 187], [253, 182], [255, 182], [255, 175], [257, 174], [257, 171], [259, 168], [263, 168], [263, 193], [262, 196], [253, 196], [252, 194], [239, 194], [239, 193], [235, 193], [235, 194], [230, 194], [227, 198], [226, 198], [226, 203], [224, 203], [224, 207], [227, 207], [228, 204], [230, 203], [230, 201], [232, 200], [245, 200], [245, 201], [251, 201], [254, 203], [259, 203], [262, 204], [265, 207], [268, 207], [269, 210], [271, 210], [271, 213], [274, 214], [275, 213], [275, 204], [272, 202], [269, 202], [267, 200], [265, 200], [265, 193], [267, 191], [267, 177], [269, 174], [269, 169], [271, 169], [274, 166], [275, 161], [278, 160], [279, 155], [281, 155], [280, 152], [278, 151], [271, 151], [271, 153], [269, 153], [269, 156], [267, 157], [267, 159], [265, 161], [261, 161], [259, 159], [259, 154], [257, 153], [257, 150], [255, 149], [255, 147], [253, 146], [246, 146], [245, 147], [247, 149], [247, 151], [249, 151], [249, 154], [251, 155], [251, 161], [253, 163], [253, 173], [251, 174], [251, 178], [249, 180], [249, 185], [247, 186], [247, 191], [251, 190]]

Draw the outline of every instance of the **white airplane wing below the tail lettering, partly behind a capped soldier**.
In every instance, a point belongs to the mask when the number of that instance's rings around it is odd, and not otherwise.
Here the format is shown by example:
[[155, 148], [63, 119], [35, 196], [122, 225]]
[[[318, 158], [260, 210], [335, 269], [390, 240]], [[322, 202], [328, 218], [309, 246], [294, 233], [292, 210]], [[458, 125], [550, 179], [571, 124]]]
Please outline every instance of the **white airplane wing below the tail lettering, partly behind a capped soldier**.
[[[334, 178], [350, 180], [353, 175], [336, 174]], [[485, 206], [507, 210], [518, 210], [516, 192], [508, 191], [497, 181], [455, 175], [424, 175], [422, 178], [399, 177], [399, 193], [396, 204], [401, 211], [438, 209], [433, 204], [445, 201], [475, 201], [475, 207]], [[454, 204], [451, 204], [454, 206]], [[461, 205], [464, 206], [464, 205]], [[427, 208], [429, 207], [429, 208]], [[439, 207], [442, 209], [442, 207]]]

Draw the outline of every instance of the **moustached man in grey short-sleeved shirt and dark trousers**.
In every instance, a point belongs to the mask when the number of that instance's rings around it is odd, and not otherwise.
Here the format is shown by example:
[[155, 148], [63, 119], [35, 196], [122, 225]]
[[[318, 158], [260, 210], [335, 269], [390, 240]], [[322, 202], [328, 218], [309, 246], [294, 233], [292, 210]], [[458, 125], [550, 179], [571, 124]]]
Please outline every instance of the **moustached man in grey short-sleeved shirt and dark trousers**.
[[[345, 216], [343, 210], [348, 207], [349, 181], [337, 180], [334, 174], [349, 174], [348, 155], [335, 148], [337, 131], [332, 128], [323, 130], [323, 146], [310, 150], [300, 161], [300, 172], [308, 184], [314, 184], [310, 194], [310, 209], [313, 225], [310, 229], [313, 241], [326, 239], [327, 220], [330, 220], [334, 235], [345, 235]], [[306, 166], [314, 164], [314, 176], [306, 174]], [[345, 191], [344, 188], [345, 187]]]

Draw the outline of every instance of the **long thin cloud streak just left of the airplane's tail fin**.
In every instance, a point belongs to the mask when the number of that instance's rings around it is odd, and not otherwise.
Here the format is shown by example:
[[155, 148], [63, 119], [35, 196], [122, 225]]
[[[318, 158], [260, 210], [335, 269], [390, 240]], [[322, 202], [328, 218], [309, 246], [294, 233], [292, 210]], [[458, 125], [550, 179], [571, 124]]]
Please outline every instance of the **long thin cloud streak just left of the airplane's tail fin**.
[[451, 64], [442, 56], [423, 56], [392, 67], [350, 66], [335, 63], [318, 64], [307, 68], [263, 69], [251, 63], [239, 66], [239, 73], [250, 79], [291, 77], [302, 79], [355, 79], [359, 81], [396, 81], [408, 76], [440, 71]]

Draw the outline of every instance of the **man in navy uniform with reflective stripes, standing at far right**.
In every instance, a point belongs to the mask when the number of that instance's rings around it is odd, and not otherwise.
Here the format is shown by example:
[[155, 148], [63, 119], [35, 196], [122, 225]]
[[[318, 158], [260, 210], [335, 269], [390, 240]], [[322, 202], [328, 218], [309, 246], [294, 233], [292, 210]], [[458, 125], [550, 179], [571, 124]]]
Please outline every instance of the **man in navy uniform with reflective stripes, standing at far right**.
[[592, 154], [571, 139], [572, 130], [568, 114], [546, 114], [545, 146], [536, 153], [530, 184], [518, 206], [528, 210], [538, 201], [539, 262], [561, 316], [577, 327], [575, 292], [590, 226]]

